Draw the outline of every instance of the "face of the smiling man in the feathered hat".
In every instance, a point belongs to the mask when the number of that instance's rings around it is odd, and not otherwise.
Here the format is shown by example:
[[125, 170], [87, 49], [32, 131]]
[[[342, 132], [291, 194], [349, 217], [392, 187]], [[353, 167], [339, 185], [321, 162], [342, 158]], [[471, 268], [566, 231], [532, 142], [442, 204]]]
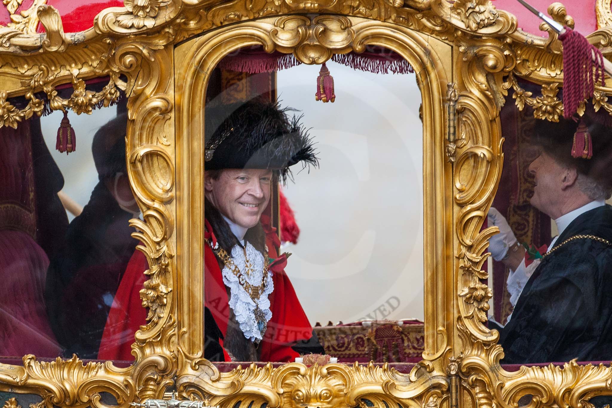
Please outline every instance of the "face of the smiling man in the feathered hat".
[[206, 198], [225, 217], [251, 228], [259, 222], [270, 199], [272, 170], [223, 169], [218, 179], [206, 176]]

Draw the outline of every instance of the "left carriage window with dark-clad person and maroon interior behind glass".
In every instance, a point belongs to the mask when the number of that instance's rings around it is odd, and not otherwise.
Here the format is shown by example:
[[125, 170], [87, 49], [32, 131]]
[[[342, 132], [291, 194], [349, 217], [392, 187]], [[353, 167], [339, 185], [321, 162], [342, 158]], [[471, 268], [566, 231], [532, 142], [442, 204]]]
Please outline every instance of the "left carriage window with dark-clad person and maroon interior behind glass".
[[[54, 111], [0, 129], [2, 362], [107, 358], [101, 344], [130, 349], [133, 336], [119, 326], [132, 305], [114, 297], [125, 270], [142, 275], [146, 259], [130, 236], [140, 209], [125, 165], [126, 123], [123, 100], [91, 115]], [[122, 316], [109, 322], [113, 310]]]

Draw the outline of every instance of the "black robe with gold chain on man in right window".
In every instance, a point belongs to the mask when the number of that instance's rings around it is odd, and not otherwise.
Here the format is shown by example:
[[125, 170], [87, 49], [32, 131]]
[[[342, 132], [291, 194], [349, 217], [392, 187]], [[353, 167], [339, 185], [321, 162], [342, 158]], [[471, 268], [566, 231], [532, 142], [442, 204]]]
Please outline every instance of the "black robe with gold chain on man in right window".
[[612, 207], [578, 216], [535, 269], [501, 332], [503, 364], [612, 360]]

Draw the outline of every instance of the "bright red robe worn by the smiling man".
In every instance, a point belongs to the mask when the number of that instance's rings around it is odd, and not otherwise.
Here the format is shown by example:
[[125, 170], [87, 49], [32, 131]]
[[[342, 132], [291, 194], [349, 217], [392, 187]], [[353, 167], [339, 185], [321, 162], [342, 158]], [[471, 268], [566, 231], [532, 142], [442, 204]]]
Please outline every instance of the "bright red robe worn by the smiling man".
[[[283, 270], [286, 260], [277, 254], [280, 242], [275, 234], [275, 229], [270, 228], [266, 221], [266, 218], [262, 217], [269, 248], [268, 256], [272, 259], [270, 270], [274, 291], [269, 295], [272, 319], [268, 322], [266, 333], [261, 341], [260, 360], [292, 362], [295, 357], [299, 357], [299, 354], [291, 346], [297, 341], [310, 339], [312, 325], [308, 322], [293, 285]], [[225, 336], [230, 314], [230, 299], [223, 283], [223, 275], [217, 258], [208, 245], [205, 248], [204, 304], [211, 311], [217, 326]], [[277, 261], [274, 262], [274, 260]], [[135, 251], [127, 265], [106, 321], [98, 354], [100, 360], [133, 360], [131, 345], [134, 341], [134, 333], [140, 328], [140, 325], [146, 323], [147, 313], [142, 306], [139, 292], [147, 279], [143, 273], [147, 268], [144, 254]], [[226, 361], [229, 361], [227, 354], [225, 358]]]

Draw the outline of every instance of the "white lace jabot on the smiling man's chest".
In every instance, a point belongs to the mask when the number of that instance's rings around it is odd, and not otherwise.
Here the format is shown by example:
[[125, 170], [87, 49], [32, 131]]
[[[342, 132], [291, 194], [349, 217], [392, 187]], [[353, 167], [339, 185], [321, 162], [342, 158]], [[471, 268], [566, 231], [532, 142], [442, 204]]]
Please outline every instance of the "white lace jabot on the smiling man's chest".
[[[264, 256], [256, 250], [248, 241], [246, 242], [247, 259], [252, 265], [250, 275], [245, 271], [244, 249], [240, 245], [234, 245], [231, 250], [231, 259], [234, 265], [243, 273], [247, 282], [259, 286], [263, 280], [264, 272]], [[240, 329], [244, 336], [251, 341], [261, 340], [263, 338], [260, 328], [255, 317], [255, 309], [259, 306], [259, 310], [263, 311], [266, 322], [272, 318], [270, 311], [270, 300], [268, 295], [274, 291], [274, 283], [272, 283], [272, 272], [267, 271], [266, 287], [263, 293], [256, 299], [255, 302], [248, 295], [247, 291], [238, 281], [238, 276], [234, 275], [233, 271], [225, 266], [222, 271], [223, 283], [230, 288], [230, 308], [236, 315], [236, 321], [240, 325]]]

